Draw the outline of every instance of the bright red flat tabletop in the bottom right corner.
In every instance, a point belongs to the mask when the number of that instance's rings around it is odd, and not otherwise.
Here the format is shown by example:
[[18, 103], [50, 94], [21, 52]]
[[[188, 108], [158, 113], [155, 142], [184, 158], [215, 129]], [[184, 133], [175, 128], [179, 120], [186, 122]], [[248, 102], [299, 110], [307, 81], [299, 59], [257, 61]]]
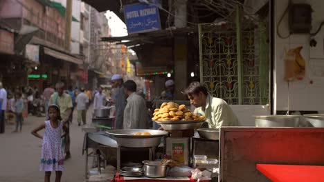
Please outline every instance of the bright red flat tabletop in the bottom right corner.
[[256, 167], [274, 182], [324, 181], [322, 165], [257, 164]]

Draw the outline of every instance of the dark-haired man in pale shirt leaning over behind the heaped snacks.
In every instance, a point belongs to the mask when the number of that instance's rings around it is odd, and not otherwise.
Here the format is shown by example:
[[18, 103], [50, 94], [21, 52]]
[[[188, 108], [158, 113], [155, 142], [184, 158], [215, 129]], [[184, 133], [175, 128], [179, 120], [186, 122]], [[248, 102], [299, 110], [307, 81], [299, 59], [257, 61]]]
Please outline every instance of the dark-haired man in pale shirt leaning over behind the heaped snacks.
[[236, 115], [226, 101], [208, 94], [207, 89], [199, 82], [190, 83], [184, 93], [187, 94], [190, 103], [195, 105], [194, 113], [206, 117], [209, 128], [239, 125]]

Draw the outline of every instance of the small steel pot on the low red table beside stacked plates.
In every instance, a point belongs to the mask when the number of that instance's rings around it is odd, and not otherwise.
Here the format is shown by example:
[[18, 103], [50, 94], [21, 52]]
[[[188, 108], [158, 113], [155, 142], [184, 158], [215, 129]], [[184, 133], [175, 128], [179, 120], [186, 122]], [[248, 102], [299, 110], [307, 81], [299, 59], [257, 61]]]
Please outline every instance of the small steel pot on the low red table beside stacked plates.
[[166, 176], [167, 165], [160, 161], [143, 161], [144, 175], [150, 178], [163, 178]]

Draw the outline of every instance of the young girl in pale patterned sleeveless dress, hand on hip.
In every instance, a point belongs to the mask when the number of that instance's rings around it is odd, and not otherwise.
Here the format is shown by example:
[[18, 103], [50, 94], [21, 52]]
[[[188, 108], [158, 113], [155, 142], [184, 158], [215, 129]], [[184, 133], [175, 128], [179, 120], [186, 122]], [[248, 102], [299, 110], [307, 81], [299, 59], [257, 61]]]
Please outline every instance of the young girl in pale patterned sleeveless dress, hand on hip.
[[[61, 139], [66, 135], [66, 128], [60, 121], [60, 108], [57, 105], [48, 106], [48, 116], [50, 120], [35, 128], [32, 134], [39, 139], [43, 139], [39, 170], [45, 171], [45, 182], [50, 181], [51, 171], [55, 171], [55, 182], [59, 182], [64, 170]], [[37, 133], [42, 129], [45, 129], [44, 136]]]

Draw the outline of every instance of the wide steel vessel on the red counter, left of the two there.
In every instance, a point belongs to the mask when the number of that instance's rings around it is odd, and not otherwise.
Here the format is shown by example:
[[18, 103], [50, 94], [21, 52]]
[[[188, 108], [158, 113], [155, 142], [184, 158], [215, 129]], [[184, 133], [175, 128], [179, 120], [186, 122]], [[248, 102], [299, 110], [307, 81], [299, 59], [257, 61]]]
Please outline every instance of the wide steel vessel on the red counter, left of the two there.
[[254, 116], [256, 127], [298, 127], [299, 115]]

